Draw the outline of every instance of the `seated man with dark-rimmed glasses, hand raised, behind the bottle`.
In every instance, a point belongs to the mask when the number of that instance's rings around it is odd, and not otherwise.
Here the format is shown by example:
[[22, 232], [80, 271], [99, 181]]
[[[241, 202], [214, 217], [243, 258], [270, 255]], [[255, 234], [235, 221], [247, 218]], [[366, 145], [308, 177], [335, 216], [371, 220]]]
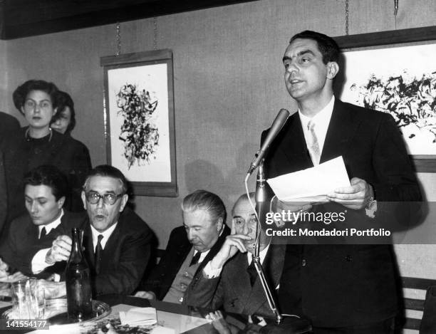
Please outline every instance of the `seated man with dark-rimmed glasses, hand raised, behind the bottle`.
[[120, 170], [100, 165], [90, 171], [82, 199], [87, 216], [73, 224], [46, 249], [45, 263], [68, 261], [71, 228], [84, 230], [83, 246], [91, 270], [93, 296], [105, 293], [133, 293], [150, 257], [152, 231], [128, 202], [127, 181]]

